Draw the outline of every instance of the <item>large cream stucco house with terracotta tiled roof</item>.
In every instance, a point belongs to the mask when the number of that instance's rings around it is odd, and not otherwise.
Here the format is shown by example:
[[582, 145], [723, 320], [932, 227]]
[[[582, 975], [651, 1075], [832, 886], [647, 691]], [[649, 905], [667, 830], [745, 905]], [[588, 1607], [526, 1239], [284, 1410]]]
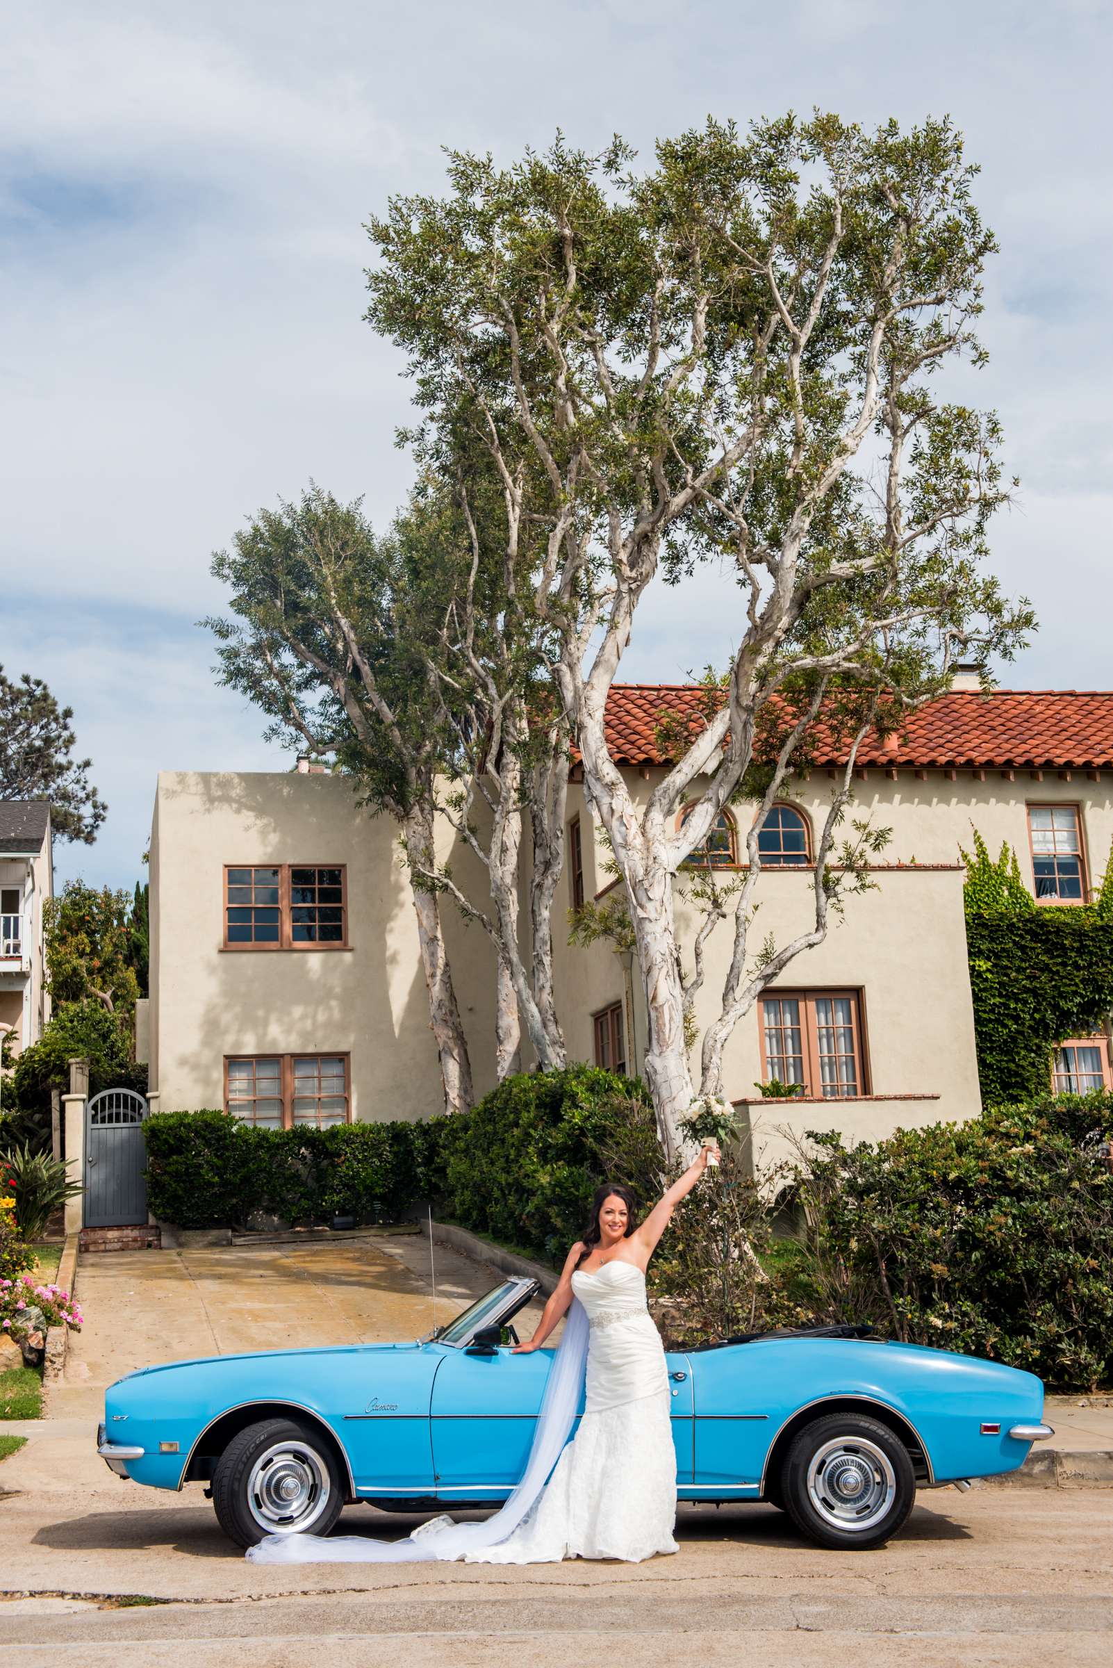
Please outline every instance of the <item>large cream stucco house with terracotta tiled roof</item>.
[[[675, 686], [611, 692], [611, 754], [638, 796], [665, 771], [660, 712], [695, 711], [698, 699]], [[636, 1071], [646, 1041], [636, 972], [606, 944], [570, 947], [563, 931], [568, 907], [615, 884], [576, 774], [553, 934], [560, 1019], [573, 1058]], [[768, 874], [753, 951], [808, 922], [813, 842], [838, 774], [838, 757], [816, 757], [761, 831]], [[850, 816], [893, 831], [875, 884], [738, 1024], [723, 1084], [766, 1128], [840, 1128], [851, 1139], [978, 1109], [960, 846], [970, 849], [973, 824], [991, 852], [1001, 841], [1016, 849], [1036, 899], [1086, 902], [1113, 842], [1113, 694], [956, 687], [913, 716], [903, 737], [863, 747], [855, 774]], [[726, 879], [745, 859], [751, 814], [725, 812], [695, 862]], [[480, 886], [467, 852], [453, 867]], [[160, 776], [150, 877], [155, 1106], [225, 1106], [272, 1126], [440, 1108], [395, 826], [358, 811], [343, 777]], [[698, 917], [683, 876], [676, 917], [690, 946]], [[445, 929], [483, 1093], [493, 1079], [490, 947], [448, 904]], [[706, 951], [701, 1024], [728, 956], [723, 924]], [[756, 1086], [771, 1078], [805, 1096], [761, 1103]], [[1106, 1039], [1066, 1044], [1056, 1083], [1110, 1083]]]

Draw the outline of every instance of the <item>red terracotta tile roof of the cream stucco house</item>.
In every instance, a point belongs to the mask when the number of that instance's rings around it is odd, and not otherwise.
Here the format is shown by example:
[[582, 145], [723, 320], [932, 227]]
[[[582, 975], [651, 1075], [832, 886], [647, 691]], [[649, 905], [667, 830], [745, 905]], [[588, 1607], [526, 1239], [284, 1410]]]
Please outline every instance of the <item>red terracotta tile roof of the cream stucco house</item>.
[[[655, 732], [661, 714], [696, 721], [705, 691], [688, 684], [615, 684], [606, 702], [606, 741], [618, 764], [666, 764]], [[845, 749], [823, 749], [816, 764], [840, 764]], [[1113, 691], [956, 689], [913, 712], [903, 734], [866, 737], [858, 764], [1113, 767]]]

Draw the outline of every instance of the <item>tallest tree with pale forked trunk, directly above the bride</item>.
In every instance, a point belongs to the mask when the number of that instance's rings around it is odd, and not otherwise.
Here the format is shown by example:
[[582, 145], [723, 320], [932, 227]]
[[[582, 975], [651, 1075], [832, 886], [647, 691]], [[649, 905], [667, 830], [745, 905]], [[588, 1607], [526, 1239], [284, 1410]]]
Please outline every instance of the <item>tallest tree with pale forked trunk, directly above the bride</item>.
[[[840, 869], [855, 751], [946, 687], [956, 652], [988, 666], [1030, 624], [983, 570], [1003, 502], [993, 414], [943, 397], [980, 365], [991, 234], [948, 122], [875, 133], [836, 117], [708, 122], [631, 172], [558, 140], [497, 168], [453, 155], [445, 198], [370, 227], [368, 319], [408, 355], [418, 452], [487, 454], [508, 549], [553, 626], [552, 676], [585, 791], [625, 881], [670, 1151], [690, 1109], [673, 877], [738, 792], [771, 804], [818, 722], [846, 757], [820, 834], [810, 922], [755, 954], [756, 829], [731, 901], [733, 952], [700, 1058], [818, 944]], [[468, 465], [470, 467], [470, 465]], [[713, 711], [643, 801], [611, 757], [606, 697], [655, 579], [700, 562], [735, 579], [736, 649]], [[720, 622], [721, 627], [723, 622]], [[843, 859], [838, 862], [836, 859]]]

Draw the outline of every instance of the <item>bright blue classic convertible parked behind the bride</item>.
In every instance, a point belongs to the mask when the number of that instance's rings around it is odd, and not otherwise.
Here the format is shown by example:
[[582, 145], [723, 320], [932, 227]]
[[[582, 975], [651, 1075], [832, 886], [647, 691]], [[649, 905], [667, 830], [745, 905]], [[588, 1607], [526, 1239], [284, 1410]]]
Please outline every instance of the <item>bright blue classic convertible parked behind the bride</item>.
[[[327, 1535], [355, 1501], [493, 1508], [553, 1358], [508, 1348], [537, 1289], [507, 1279], [417, 1343], [142, 1368], [107, 1391], [98, 1453], [150, 1488], [207, 1485], [240, 1546]], [[768, 1501], [823, 1546], [880, 1546], [916, 1488], [1015, 1471], [1055, 1434], [1031, 1373], [866, 1328], [731, 1338], [670, 1354], [668, 1376], [680, 1500]]]

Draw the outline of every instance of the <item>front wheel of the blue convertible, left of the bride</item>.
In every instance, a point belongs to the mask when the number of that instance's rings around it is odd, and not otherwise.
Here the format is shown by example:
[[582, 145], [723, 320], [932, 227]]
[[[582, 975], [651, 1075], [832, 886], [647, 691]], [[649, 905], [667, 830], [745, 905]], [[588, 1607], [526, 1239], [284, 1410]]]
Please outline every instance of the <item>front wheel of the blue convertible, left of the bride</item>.
[[293, 1419], [248, 1424], [213, 1471], [217, 1521], [237, 1546], [265, 1535], [328, 1535], [343, 1495], [332, 1444]]

